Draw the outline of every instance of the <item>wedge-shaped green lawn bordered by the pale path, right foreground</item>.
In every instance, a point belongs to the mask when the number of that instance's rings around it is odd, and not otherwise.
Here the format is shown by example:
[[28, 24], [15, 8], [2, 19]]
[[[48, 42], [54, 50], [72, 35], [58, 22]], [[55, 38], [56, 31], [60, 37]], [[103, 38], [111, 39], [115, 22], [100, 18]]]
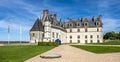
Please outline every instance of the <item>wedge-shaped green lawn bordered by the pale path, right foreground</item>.
[[82, 45], [72, 45], [72, 46], [97, 54], [120, 52], [120, 47], [115, 47], [115, 46], [82, 46]]

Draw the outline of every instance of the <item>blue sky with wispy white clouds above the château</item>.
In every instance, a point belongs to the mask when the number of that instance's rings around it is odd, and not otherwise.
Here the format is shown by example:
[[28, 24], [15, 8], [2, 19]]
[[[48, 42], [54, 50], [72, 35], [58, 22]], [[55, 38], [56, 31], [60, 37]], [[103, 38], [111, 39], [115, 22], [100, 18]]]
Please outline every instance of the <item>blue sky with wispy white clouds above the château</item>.
[[0, 0], [0, 41], [29, 41], [29, 30], [42, 11], [57, 14], [57, 20], [74, 20], [84, 16], [91, 19], [102, 15], [103, 33], [120, 32], [119, 0]]

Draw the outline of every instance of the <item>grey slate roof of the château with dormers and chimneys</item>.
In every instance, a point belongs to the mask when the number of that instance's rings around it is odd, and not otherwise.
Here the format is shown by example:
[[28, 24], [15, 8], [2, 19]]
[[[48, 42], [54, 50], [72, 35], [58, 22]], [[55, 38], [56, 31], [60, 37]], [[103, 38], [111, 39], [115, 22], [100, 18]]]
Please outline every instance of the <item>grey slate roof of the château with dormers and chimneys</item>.
[[[44, 11], [43, 11], [44, 12]], [[31, 28], [30, 31], [44, 31], [44, 25], [43, 22], [50, 21], [53, 25], [53, 28], [63, 28], [61, 30], [65, 31], [65, 28], [76, 28], [76, 27], [86, 27], [84, 24], [87, 23], [87, 27], [96, 27], [96, 23], [99, 23], [99, 27], [102, 27], [102, 20], [101, 16], [98, 18], [92, 17], [92, 19], [87, 19], [82, 17], [81, 19], [78, 18], [78, 20], [73, 20], [68, 18], [67, 22], [57, 21], [56, 14], [48, 14], [48, 12], [43, 13], [43, 16], [41, 18], [38, 18]], [[72, 26], [71, 26], [72, 25]], [[59, 26], [59, 27], [58, 27]]]

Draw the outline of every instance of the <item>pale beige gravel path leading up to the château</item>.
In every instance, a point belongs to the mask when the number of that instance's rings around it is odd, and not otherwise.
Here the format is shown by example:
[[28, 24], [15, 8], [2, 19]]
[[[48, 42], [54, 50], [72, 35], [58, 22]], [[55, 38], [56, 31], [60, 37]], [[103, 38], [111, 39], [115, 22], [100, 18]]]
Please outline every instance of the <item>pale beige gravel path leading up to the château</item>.
[[37, 55], [25, 62], [120, 62], [120, 53], [94, 54], [69, 45], [58, 46], [43, 54], [61, 54], [61, 58], [44, 59]]

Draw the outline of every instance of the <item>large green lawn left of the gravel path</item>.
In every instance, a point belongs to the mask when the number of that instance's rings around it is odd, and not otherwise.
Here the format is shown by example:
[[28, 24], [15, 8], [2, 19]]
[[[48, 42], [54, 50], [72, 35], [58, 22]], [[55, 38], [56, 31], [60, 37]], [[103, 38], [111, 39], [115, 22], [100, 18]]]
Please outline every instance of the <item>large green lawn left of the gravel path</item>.
[[0, 62], [23, 62], [55, 46], [0, 46]]

